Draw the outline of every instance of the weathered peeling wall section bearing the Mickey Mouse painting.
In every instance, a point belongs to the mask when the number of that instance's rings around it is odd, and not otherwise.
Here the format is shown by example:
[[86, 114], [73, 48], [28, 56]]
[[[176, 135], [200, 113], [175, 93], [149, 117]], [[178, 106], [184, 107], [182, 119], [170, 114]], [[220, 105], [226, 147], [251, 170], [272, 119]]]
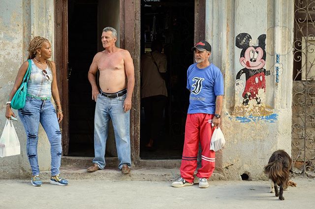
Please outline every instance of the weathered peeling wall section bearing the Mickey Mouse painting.
[[291, 153], [293, 7], [291, 0], [207, 0], [206, 40], [225, 85], [217, 171], [229, 180], [265, 179], [272, 152]]

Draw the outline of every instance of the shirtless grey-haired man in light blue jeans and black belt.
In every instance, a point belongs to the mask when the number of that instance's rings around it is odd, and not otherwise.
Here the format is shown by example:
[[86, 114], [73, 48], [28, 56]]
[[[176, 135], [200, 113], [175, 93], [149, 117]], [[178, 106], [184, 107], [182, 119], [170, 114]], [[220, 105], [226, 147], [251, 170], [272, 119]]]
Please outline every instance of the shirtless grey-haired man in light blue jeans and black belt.
[[[94, 119], [93, 165], [87, 169], [95, 172], [105, 167], [105, 150], [109, 119], [113, 122], [119, 169], [130, 173], [129, 119], [131, 97], [134, 87], [134, 67], [130, 53], [117, 48], [117, 31], [105, 27], [102, 32], [104, 51], [96, 53], [90, 66], [88, 78], [92, 85], [92, 99], [96, 102]], [[95, 75], [99, 71], [99, 86]]]

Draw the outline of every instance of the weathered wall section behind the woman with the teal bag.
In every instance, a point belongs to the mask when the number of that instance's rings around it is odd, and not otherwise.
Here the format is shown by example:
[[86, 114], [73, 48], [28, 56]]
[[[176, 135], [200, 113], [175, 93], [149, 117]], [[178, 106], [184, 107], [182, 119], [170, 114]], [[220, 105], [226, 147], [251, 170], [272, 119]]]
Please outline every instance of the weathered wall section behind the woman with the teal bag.
[[[54, 46], [54, 0], [0, 0], [0, 129], [5, 124], [5, 102], [34, 36], [44, 36]], [[52, 59], [53, 60], [53, 57]], [[13, 110], [17, 115], [17, 110]], [[18, 118], [19, 120], [19, 118]], [[31, 175], [26, 153], [26, 134], [20, 120], [15, 129], [21, 155], [0, 158], [1, 178]], [[50, 145], [45, 131], [39, 129], [38, 163], [40, 170], [50, 169]]]

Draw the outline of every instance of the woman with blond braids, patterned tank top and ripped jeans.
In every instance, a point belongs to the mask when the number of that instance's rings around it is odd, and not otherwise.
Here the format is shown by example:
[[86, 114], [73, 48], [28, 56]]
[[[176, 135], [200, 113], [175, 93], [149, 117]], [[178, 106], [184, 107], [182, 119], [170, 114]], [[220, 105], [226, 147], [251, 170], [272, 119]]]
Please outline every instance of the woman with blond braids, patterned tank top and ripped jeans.
[[[62, 156], [61, 131], [59, 123], [63, 120], [63, 109], [59, 97], [56, 77], [56, 65], [49, 58], [52, 55], [51, 44], [46, 38], [36, 36], [29, 46], [29, 57], [32, 61], [30, 79], [27, 83], [25, 106], [18, 110], [19, 117], [27, 135], [27, 155], [32, 168], [32, 185], [41, 186], [37, 159], [37, 142], [39, 123], [44, 128], [51, 146], [51, 178], [50, 183], [67, 185], [67, 180], [61, 178], [60, 164]], [[11, 100], [20, 87], [29, 67], [25, 61], [20, 67], [13, 89], [6, 103], [5, 117], [10, 119], [15, 114], [11, 110]], [[57, 110], [51, 103], [53, 97]]]

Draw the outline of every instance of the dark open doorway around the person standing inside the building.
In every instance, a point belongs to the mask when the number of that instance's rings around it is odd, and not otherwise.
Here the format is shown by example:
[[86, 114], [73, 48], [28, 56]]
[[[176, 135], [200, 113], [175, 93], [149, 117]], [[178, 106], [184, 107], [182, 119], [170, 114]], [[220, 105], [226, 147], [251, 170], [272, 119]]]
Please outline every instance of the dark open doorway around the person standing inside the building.
[[[146, 148], [149, 124], [141, 105], [141, 159], [180, 159], [182, 157], [189, 91], [187, 69], [193, 63], [194, 0], [141, 1], [141, 54], [151, 51], [153, 40], [163, 45], [167, 57], [167, 102], [162, 128], [154, 149]], [[143, 103], [142, 103], [143, 104]]]

